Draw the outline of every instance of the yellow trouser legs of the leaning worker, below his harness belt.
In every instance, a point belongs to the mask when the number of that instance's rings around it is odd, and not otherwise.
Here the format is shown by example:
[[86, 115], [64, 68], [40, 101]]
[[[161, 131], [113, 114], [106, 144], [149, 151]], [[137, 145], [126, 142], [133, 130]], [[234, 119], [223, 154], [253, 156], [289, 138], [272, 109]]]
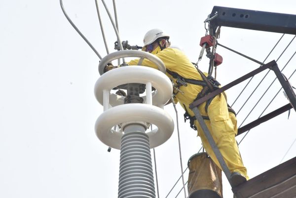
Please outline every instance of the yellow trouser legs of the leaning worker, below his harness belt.
[[[228, 169], [231, 173], [239, 172], [248, 180], [249, 177], [247, 175], [247, 169], [243, 164], [235, 140], [235, 135], [237, 134], [236, 118], [233, 113], [228, 113], [225, 97], [222, 94], [217, 95], [210, 103], [208, 113], [205, 111], [205, 105], [206, 103], [203, 103], [198, 107], [199, 112], [202, 116], [209, 117], [210, 120], [204, 119], [204, 121], [213, 136], [213, 139], [216, 142]], [[194, 124], [197, 128], [198, 136], [201, 138], [203, 147], [214, 162], [221, 168], [220, 163], [207, 141], [203, 130], [198, 124], [198, 121], [195, 120]]]

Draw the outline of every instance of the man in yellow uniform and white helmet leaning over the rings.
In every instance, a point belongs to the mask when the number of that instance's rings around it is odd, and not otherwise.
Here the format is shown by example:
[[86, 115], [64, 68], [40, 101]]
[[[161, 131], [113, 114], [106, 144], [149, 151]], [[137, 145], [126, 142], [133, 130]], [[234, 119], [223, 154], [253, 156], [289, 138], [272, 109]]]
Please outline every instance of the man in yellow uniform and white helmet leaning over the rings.
[[[202, 97], [202, 95], [208, 93], [205, 92], [205, 90], [208, 89], [204, 89], [206, 85], [202, 78], [202, 75], [208, 75], [206, 73], [200, 73], [181, 50], [170, 47], [171, 43], [169, 38], [169, 35], [160, 29], [149, 30], [144, 37], [144, 47], [142, 50], [156, 55], [163, 61], [167, 69], [166, 75], [175, 85], [173, 93], [174, 101], [179, 102], [184, 108], [185, 118], [190, 119], [191, 127], [195, 130], [197, 129], [198, 136], [201, 138], [206, 152], [222, 169], [203, 130], [195, 119], [193, 112], [189, 109], [189, 104], [196, 100], [197, 97]], [[139, 59], [136, 59], [127, 64], [138, 65], [138, 62]], [[144, 59], [142, 65], [158, 69], [154, 63], [147, 59]], [[115, 67], [116, 66], [109, 64], [105, 67], [105, 72]], [[195, 79], [195, 81], [203, 83], [200, 83], [202, 85], [188, 83], [185, 82], [185, 79]], [[203, 116], [204, 121], [231, 172], [231, 186], [237, 186], [248, 180], [247, 169], [243, 165], [238, 145], [235, 140], [235, 135], [237, 134], [235, 114], [233, 112], [228, 112], [226, 96], [221, 93], [209, 101], [200, 104], [198, 110]]]

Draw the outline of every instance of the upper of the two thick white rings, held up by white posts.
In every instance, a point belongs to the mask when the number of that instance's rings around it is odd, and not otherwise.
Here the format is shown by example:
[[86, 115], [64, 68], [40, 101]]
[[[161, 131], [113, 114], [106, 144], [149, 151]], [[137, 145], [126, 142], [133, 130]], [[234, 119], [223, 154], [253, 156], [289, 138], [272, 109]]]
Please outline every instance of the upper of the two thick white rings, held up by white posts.
[[[148, 82], [156, 89], [156, 91], [152, 93], [152, 104], [162, 108], [172, 96], [172, 82], [162, 72], [149, 67], [119, 67], [105, 73], [95, 84], [95, 96], [99, 103], [104, 105], [104, 102], [106, 102], [103, 100], [104, 89], [112, 90], [112, 88], [116, 86], [127, 83], [147, 84]], [[143, 96], [143, 99], [146, 101], [146, 96]], [[124, 104], [124, 97], [110, 93], [109, 102], [112, 107], [122, 105]]]

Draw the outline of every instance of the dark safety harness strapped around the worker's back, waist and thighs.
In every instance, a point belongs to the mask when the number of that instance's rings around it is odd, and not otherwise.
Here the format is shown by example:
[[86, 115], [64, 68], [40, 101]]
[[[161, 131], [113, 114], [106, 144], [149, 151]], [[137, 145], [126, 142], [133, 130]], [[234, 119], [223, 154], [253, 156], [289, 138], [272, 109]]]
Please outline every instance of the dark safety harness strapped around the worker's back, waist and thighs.
[[[193, 101], [196, 101], [196, 100], [204, 97], [205, 95], [209, 94], [210, 92], [212, 92], [212, 91], [214, 91], [216, 89], [219, 89], [219, 86], [221, 84], [216, 79], [214, 79], [211, 75], [208, 75], [208, 77], [206, 77], [206, 75], [204, 73], [202, 73], [202, 71], [200, 71], [195, 64], [194, 64], [194, 66], [195, 66], [196, 70], [198, 71], [198, 73], [200, 74], [200, 76], [201, 76], [201, 78], [203, 80], [186, 79], [186, 78], [182, 77], [181, 75], [179, 75], [176, 72], [172, 72], [172, 71], [170, 71], [168, 69], [166, 69], [166, 71], [174, 79], [176, 79], [177, 85], [175, 85], [175, 88], [178, 91], [181, 91], [179, 89], [180, 86], [187, 86], [187, 83], [203, 86], [202, 90], [197, 94], [196, 98], [193, 100]], [[174, 93], [174, 94], [177, 94], [177, 93]], [[226, 99], [226, 95], [224, 94], [224, 92], [222, 92], [222, 93], [223, 93], [223, 95], [224, 95], [224, 97]], [[214, 99], [214, 97], [210, 98], [209, 100], [206, 101], [206, 107], [205, 107], [206, 113], [208, 113], [208, 107], [211, 104], [213, 99]], [[194, 120], [196, 119], [195, 116], [190, 116], [188, 114], [188, 111], [187, 111], [184, 104], [183, 104], [183, 106], [184, 106], [184, 109], [185, 109], [184, 121], [186, 122], [186, 120], [189, 119], [190, 127], [193, 128], [194, 130], [197, 130], [196, 126], [194, 125]], [[228, 106], [228, 112], [232, 112], [232, 113], [235, 114], [234, 110], [228, 104], [227, 104], [227, 106]], [[202, 116], [202, 118], [210, 120], [208, 116]]]

